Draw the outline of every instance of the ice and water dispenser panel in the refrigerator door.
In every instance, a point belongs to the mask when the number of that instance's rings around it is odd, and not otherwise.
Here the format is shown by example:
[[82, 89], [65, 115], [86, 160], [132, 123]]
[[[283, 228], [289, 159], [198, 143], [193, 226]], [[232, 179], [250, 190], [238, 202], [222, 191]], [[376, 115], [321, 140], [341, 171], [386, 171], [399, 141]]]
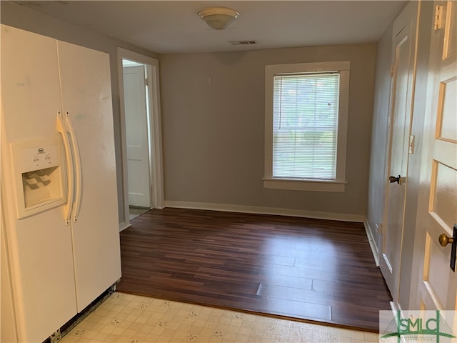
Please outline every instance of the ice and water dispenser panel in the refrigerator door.
[[66, 203], [63, 150], [58, 136], [11, 144], [18, 219]]

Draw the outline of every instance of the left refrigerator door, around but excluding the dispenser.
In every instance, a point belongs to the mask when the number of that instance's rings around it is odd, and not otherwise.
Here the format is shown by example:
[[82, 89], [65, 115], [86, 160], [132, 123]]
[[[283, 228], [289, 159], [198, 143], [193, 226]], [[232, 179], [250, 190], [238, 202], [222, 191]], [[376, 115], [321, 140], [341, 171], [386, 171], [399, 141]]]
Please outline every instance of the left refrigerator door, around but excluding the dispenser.
[[[62, 207], [17, 219], [17, 189], [10, 143], [59, 137], [61, 109], [56, 40], [1, 25], [1, 197], [2, 252], [9, 259], [13, 299], [1, 301], [16, 317], [19, 342], [42, 342], [76, 314], [71, 227]], [[3, 312], [4, 304], [13, 304]], [[10, 307], [11, 309], [11, 307]], [[11, 322], [11, 321], [10, 321]], [[3, 335], [3, 333], [2, 333]]]

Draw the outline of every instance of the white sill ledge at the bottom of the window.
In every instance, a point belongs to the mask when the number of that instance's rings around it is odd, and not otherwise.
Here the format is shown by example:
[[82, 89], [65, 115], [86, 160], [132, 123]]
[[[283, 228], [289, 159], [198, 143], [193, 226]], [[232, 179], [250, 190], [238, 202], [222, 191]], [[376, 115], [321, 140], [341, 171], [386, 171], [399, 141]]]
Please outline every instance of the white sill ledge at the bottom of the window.
[[263, 187], [311, 192], [344, 192], [346, 181], [263, 178]]

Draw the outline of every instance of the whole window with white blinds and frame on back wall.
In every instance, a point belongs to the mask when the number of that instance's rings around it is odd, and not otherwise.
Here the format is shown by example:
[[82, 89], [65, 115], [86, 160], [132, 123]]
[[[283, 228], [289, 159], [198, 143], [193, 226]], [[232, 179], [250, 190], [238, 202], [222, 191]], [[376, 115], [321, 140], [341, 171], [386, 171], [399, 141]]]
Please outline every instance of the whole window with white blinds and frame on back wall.
[[349, 62], [265, 70], [264, 187], [344, 192]]

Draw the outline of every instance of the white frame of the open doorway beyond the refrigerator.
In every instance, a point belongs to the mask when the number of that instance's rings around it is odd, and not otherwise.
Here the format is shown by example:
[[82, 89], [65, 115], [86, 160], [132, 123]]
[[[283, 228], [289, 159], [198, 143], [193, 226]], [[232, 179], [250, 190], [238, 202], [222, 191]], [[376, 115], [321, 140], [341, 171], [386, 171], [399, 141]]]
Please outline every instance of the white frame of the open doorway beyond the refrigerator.
[[164, 208], [164, 171], [162, 164], [162, 133], [161, 133], [161, 106], [159, 91], [159, 60], [149, 56], [138, 54], [134, 51], [117, 47], [117, 67], [118, 67], [118, 86], [119, 86], [119, 104], [121, 114], [121, 161], [122, 161], [122, 200], [123, 200], [123, 224], [121, 230], [130, 226], [129, 219], [129, 179], [127, 174], [127, 143], [126, 143], [126, 114], [124, 109], [124, 69], [122, 60], [129, 59], [140, 64], [146, 65], [146, 72], [149, 79], [148, 97], [149, 97], [149, 172], [151, 187], [151, 207]]

